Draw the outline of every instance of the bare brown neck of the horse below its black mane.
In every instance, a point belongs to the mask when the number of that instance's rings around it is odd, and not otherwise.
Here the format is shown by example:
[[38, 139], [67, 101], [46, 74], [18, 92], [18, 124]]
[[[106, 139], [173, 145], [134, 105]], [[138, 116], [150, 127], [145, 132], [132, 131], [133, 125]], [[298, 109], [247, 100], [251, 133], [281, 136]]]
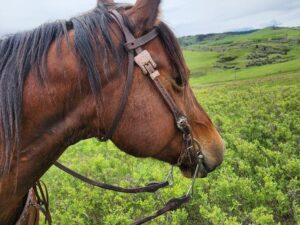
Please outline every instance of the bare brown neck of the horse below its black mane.
[[[25, 82], [20, 150], [10, 172], [0, 175], [1, 224], [13, 221], [28, 190], [68, 146], [101, 135], [96, 119], [101, 112], [87, 76], [67, 43], [62, 43], [62, 49], [63, 60], [56, 57], [55, 44], [49, 49], [45, 85], [38, 84], [33, 70]], [[0, 150], [3, 147], [0, 143]]]

